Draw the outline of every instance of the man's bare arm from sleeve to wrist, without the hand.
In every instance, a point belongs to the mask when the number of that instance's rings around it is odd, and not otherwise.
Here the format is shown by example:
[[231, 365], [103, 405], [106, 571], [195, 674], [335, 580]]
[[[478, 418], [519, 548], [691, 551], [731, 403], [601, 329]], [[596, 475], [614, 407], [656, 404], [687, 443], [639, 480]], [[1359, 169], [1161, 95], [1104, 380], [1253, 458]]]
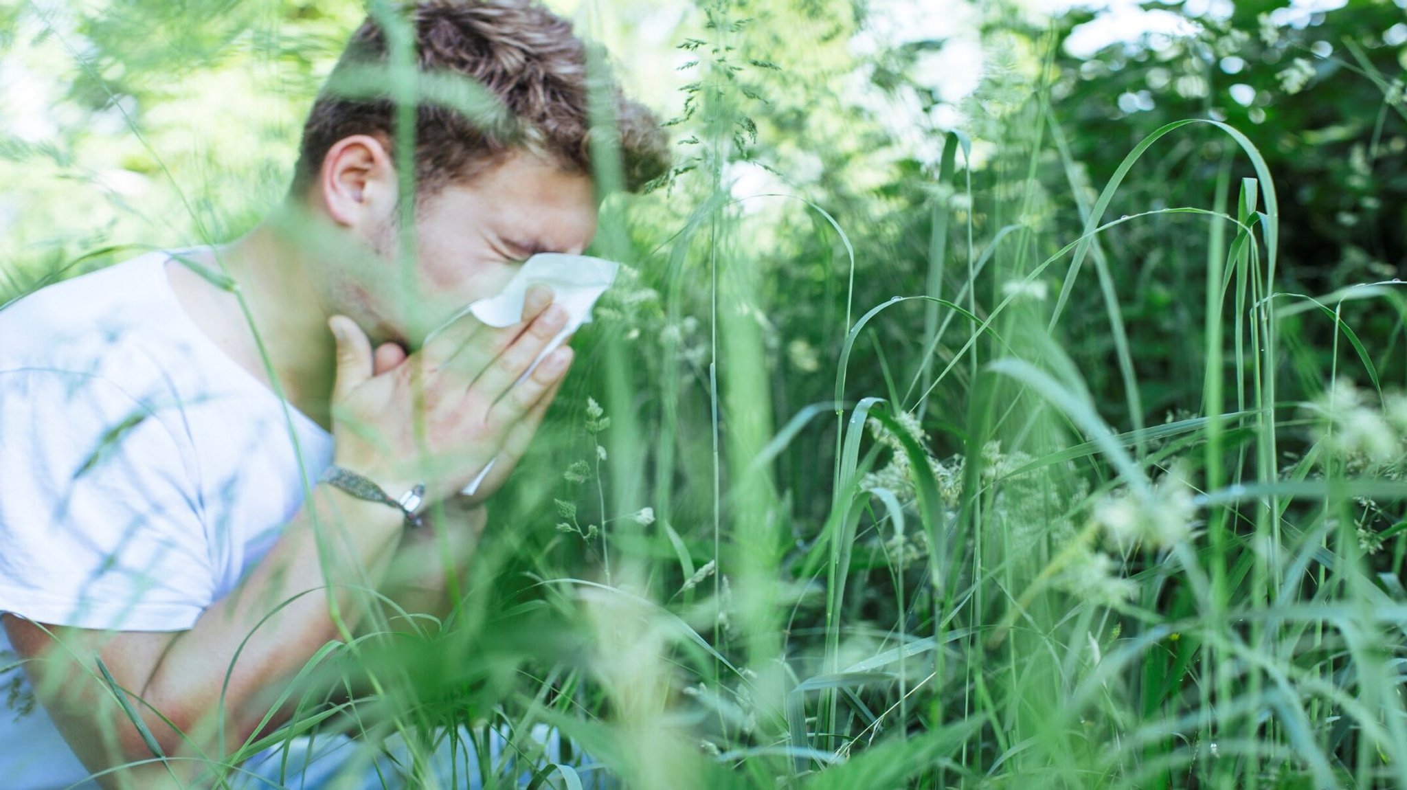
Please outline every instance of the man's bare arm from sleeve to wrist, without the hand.
[[[319, 485], [312, 499], [318, 523], [335, 533], [322, 538], [324, 545], [350, 554], [338, 564], [360, 562], [370, 579], [384, 575], [386, 558], [404, 529], [400, 514], [326, 485]], [[328, 524], [335, 510], [345, 516], [345, 527]], [[339, 637], [339, 624], [329, 616], [333, 602], [348, 627], [356, 623], [360, 607], [353, 595], [339, 585], [333, 599], [326, 586], [314, 586], [322, 579], [319, 537], [305, 505], [241, 586], [207, 609], [189, 631], [106, 634], [39, 626], [8, 614], [4, 627], [15, 651], [30, 659], [25, 669], [37, 696], [89, 770], [151, 760], [156, 751], [166, 756], [204, 752], [219, 759], [255, 732], [273, 697], [304, 662]], [[141, 727], [122, 708], [104, 668], [129, 694], [129, 710], [139, 715]], [[224, 744], [218, 742], [221, 725]], [[177, 776], [198, 768], [193, 762], [183, 770], [174, 763]], [[101, 783], [145, 789], [169, 779], [167, 768], [153, 762]]]

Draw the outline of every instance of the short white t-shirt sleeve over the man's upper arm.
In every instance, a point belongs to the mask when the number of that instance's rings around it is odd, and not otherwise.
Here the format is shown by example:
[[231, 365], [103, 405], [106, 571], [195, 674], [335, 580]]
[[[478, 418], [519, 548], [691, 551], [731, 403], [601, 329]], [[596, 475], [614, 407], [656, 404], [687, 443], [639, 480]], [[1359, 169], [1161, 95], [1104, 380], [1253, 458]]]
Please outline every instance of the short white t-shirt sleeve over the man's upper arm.
[[215, 574], [186, 458], [152, 405], [107, 380], [0, 373], [0, 611], [191, 627]]

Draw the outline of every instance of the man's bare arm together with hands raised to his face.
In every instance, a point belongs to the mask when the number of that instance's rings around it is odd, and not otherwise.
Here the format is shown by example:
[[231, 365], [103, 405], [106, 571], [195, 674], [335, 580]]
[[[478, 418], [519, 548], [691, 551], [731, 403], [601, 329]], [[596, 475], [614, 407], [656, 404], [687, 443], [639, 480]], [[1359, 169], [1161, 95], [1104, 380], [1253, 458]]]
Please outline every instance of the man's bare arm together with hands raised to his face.
[[[426, 500], [438, 502], [507, 444], [525, 444], [525, 426], [542, 419], [571, 361], [570, 350], [554, 351], [514, 387], [564, 323], [560, 308], [547, 304], [545, 291], [529, 295], [526, 320], [507, 329], [466, 319], [426, 344], [416, 365], [381, 375], [374, 375], [366, 336], [333, 319], [336, 462], [398, 492], [409, 488], [408, 470], [422, 468], [414, 460], [428, 450], [440, 474], [429, 481]], [[412, 375], [421, 377], [429, 447], [416, 439]], [[28, 659], [39, 701], [90, 770], [151, 760], [155, 752], [218, 760], [255, 734], [287, 680], [324, 644], [349, 633], [343, 628], [360, 607], [348, 585], [378, 586], [402, 530], [395, 509], [319, 485], [255, 571], [187, 631], [113, 635], [10, 616], [4, 627]], [[279, 724], [280, 713], [272, 715]], [[200, 768], [200, 760], [149, 762], [100, 783], [159, 787]]]

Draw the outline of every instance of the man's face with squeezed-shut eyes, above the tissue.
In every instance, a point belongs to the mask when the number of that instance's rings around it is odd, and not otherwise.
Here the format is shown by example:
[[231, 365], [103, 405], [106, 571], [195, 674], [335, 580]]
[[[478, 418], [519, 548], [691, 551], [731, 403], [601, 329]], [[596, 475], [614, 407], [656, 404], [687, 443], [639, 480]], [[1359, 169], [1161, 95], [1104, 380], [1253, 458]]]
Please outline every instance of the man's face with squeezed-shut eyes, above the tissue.
[[[356, 302], [357, 309], [346, 312], [373, 343], [414, 350], [456, 311], [501, 291], [532, 254], [581, 253], [597, 232], [595, 191], [587, 176], [516, 153], [422, 201], [415, 231], [416, 299], [408, 298], [394, 267], [377, 285], [345, 283], [338, 299]], [[397, 259], [397, 245], [393, 222], [373, 233], [383, 261]]]

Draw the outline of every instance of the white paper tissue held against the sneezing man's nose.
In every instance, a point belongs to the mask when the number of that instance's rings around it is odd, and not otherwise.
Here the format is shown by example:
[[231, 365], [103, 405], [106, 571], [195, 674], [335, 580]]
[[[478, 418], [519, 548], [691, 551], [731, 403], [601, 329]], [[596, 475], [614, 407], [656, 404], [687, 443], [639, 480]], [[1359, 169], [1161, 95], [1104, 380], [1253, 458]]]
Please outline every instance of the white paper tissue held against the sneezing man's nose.
[[[568, 335], [580, 329], [582, 323], [588, 323], [591, 320], [591, 308], [597, 304], [597, 299], [601, 298], [601, 294], [605, 294], [606, 288], [615, 283], [615, 276], [620, 266], [618, 263], [584, 254], [535, 254], [523, 261], [518, 274], [514, 274], [514, 278], [508, 281], [508, 285], [504, 285], [504, 290], [499, 291], [497, 297], [480, 299], [459, 311], [453, 318], [431, 332], [426, 336], [426, 342], [467, 313], [473, 313], [474, 318], [488, 326], [512, 326], [523, 319], [523, 301], [526, 299], [528, 288], [539, 284], [547, 285], [553, 292], [553, 304], [566, 308], [567, 323], [563, 326], [561, 332], [559, 332], [557, 336], [543, 347], [542, 353], [537, 354], [537, 358], [528, 365], [528, 371], [518, 378], [521, 382], [537, 368], [537, 363], [540, 363], [543, 357], [550, 354], [557, 346], [561, 346], [561, 342], [566, 340]], [[484, 478], [488, 477], [488, 471], [494, 468], [495, 461], [497, 458], [490, 461], [488, 465], [484, 467], [484, 471], [478, 472], [474, 482], [464, 488], [464, 495], [471, 495], [478, 491], [478, 484], [484, 482]]]

